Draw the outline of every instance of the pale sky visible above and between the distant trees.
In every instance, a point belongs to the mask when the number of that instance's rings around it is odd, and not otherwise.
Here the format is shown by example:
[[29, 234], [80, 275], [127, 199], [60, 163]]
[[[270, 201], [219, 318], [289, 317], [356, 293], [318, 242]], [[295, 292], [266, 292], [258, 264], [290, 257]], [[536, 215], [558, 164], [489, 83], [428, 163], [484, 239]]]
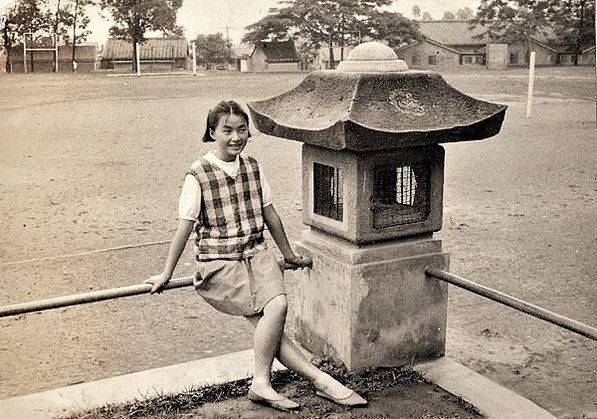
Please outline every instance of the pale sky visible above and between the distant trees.
[[[0, 0], [0, 10], [14, 0]], [[238, 43], [243, 35], [243, 28], [257, 22], [267, 14], [277, 0], [184, 0], [178, 12], [178, 23], [185, 28], [188, 39], [197, 34], [221, 32], [229, 36], [233, 43]], [[456, 12], [459, 8], [470, 7], [476, 11], [480, 0], [395, 0], [390, 11], [402, 13], [412, 18], [412, 7], [418, 5], [421, 12], [429, 12], [434, 19], [441, 19], [445, 11]], [[90, 13], [92, 35], [89, 41], [103, 44], [108, 37], [111, 23], [102, 18], [97, 11]]]

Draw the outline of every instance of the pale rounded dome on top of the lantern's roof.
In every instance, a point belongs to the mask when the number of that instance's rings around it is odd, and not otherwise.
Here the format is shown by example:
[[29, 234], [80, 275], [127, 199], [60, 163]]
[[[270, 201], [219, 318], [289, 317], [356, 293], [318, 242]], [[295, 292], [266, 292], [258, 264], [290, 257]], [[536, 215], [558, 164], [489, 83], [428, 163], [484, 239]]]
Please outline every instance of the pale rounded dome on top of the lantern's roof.
[[338, 71], [395, 72], [406, 71], [408, 66], [392, 48], [380, 42], [364, 42], [356, 46], [346, 60], [338, 64]]

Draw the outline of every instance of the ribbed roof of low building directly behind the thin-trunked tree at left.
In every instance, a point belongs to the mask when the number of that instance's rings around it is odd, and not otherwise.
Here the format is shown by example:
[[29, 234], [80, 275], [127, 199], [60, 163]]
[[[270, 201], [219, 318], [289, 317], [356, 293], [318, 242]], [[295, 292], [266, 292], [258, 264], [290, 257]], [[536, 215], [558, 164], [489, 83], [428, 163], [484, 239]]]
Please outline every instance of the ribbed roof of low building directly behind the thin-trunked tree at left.
[[[186, 58], [187, 40], [184, 38], [150, 38], [141, 44], [139, 56], [141, 60], [173, 60]], [[131, 60], [133, 45], [120, 39], [108, 39], [104, 47], [104, 59]]]

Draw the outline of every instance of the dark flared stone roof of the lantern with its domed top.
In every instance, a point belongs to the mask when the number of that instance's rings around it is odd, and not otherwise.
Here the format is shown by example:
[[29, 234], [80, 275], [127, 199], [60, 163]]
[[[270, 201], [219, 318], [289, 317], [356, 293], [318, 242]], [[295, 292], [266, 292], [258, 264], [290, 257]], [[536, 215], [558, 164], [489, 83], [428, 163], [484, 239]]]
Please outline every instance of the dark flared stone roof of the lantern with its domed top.
[[347, 63], [347, 71], [314, 71], [289, 92], [249, 103], [257, 129], [355, 151], [480, 140], [499, 132], [505, 105], [467, 96], [435, 72], [392, 70], [385, 52], [373, 54], [371, 63], [383, 65], [372, 71], [375, 66], [366, 67], [358, 51], [371, 49], [364, 45], [350, 53], [348, 62], [358, 59], [357, 65]]

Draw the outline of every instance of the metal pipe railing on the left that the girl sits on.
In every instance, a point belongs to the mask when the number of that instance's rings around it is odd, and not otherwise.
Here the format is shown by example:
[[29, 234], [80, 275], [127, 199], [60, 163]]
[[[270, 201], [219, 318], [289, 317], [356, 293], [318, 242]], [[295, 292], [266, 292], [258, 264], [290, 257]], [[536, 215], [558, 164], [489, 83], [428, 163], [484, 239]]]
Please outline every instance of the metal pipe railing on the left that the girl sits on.
[[[278, 261], [280, 269], [295, 270], [301, 266], [293, 265], [283, 260]], [[305, 258], [302, 267], [308, 268], [313, 265], [310, 259]], [[190, 287], [193, 285], [193, 277], [187, 276], [183, 278], [176, 278], [170, 280], [163, 288], [163, 290], [171, 290], [175, 288]], [[134, 295], [149, 294], [151, 291], [151, 284], [136, 284], [120, 288], [111, 288], [107, 290], [92, 291], [82, 294], [66, 295], [64, 297], [49, 298], [47, 300], [30, 301], [28, 303], [13, 304], [0, 307], [0, 318], [16, 316], [19, 314], [33, 313], [37, 311], [51, 310], [54, 308], [68, 307], [79, 304], [95, 303], [97, 301], [115, 300], [123, 297], [131, 297]]]

